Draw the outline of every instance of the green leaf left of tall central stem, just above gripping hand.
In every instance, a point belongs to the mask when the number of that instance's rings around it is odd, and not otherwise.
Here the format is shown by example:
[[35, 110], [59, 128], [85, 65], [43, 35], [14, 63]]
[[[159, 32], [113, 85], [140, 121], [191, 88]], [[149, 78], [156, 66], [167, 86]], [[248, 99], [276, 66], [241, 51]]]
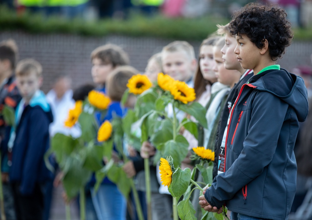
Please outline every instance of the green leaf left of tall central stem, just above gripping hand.
[[161, 143], [165, 143], [173, 139], [172, 123], [168, 118], [165, 118], [159, 122], [157, 130], [154, 130], [150, 137], [150, 142], [157, 146]]

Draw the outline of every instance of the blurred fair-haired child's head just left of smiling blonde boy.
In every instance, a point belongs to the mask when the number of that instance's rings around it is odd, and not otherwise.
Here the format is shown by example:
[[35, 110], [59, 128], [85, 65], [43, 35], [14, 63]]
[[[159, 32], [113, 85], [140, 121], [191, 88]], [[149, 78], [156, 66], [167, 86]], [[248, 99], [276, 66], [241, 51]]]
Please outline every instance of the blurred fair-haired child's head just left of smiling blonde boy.
[[163, 72], [163, 65], [161, 62], [161, 53], [154, 54], [149, 58], [147, 66], [145, 68], [145, 75], [149, 77], [152, 82], [157, 81], [158, 73]]

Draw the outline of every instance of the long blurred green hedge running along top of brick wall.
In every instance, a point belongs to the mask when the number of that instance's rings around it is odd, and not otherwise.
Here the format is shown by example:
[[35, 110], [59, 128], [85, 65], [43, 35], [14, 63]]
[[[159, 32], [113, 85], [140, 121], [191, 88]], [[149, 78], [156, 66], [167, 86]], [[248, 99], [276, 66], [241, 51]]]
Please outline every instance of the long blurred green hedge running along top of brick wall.
[[[66, 33], [85, 36], [120, 34], [126, 36], [151, 36], [175, 40], [202, 40], [216, 31], [216, 24], [229, 22], [221, 17], [166, 18], [162, 16], [130, 16], [126, 20], [105, 19], [88, 22], [81, 19], [66, 20], [44, 17], [40, 14], [16, 12], [0, 8], [0, 30], [23, 30], [29, 33]], [[312, 40], [312, 27], [296, 29], [295, 40]]]

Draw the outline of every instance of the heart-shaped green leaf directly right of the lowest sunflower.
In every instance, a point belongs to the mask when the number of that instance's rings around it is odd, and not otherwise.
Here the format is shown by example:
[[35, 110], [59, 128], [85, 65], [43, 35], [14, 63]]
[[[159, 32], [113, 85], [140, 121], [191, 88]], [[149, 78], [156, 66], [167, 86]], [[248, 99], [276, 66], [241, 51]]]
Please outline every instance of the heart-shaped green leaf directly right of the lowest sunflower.
[[191, 178], [191, 169], [185, 168], [182, 170], [180, 167], [176, 169], [172, 175], [171, 190], [174, 197], [180, 198], [188, 189], [188, 183]]

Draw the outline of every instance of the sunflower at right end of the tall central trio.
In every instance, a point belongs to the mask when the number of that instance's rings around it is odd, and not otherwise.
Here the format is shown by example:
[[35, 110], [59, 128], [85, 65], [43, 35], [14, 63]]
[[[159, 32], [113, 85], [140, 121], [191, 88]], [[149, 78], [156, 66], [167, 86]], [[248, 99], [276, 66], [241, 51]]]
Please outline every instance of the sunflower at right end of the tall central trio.
[[185, 82], [174, 81], [173, 86], [170, 86], [169, 91], [174, 99], [179, 100], [184, 104], [192, 102], [196, 98], [195, 90], [188, 87]]

